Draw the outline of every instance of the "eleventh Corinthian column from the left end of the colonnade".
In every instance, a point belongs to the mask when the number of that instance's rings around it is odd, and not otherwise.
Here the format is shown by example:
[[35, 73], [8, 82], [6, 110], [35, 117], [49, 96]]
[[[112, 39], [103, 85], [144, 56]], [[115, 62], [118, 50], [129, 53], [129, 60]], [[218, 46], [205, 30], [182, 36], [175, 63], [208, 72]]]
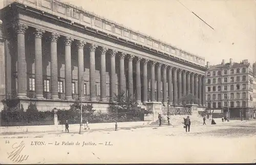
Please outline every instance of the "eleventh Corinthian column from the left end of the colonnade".
[[141, 82], [140, 82], [140, 61], [141, 57], [136, 58], [136, 102], [141, 104]]

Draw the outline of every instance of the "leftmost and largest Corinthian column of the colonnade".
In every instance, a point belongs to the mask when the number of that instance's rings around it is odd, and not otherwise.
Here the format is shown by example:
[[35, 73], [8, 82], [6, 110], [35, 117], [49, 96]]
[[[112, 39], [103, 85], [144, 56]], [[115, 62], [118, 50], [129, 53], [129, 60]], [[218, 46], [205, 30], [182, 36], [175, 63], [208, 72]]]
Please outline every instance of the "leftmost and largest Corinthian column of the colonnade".
[[27, 97], [27, 64], [25, 54], [25, 32], [28, 26], [23, 23], [15, 24], [17, 33], [17, 74], [18, 74], [18, 93], [19, 98]]

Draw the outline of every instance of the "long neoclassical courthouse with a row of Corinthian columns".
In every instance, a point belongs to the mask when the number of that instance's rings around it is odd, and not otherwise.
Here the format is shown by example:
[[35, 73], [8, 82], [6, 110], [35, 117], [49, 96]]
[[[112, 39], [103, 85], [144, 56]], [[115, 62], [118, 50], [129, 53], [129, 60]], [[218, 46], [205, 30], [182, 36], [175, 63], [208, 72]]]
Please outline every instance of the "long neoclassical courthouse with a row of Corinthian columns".
[[54, 0], [14, 1], [1, 10], [0, 95], [24, 108], [68, 108], [75, 99], [105, 111], [124, 91], [139, 104], [205, 106], [204, 58]]

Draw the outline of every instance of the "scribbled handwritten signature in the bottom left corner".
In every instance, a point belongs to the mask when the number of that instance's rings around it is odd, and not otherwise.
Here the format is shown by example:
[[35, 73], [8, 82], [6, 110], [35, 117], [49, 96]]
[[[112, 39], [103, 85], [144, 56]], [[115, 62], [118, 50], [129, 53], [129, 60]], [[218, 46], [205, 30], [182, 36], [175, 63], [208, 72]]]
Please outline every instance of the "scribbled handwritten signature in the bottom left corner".
[[8, 159], [10, 159], [13, 162], [22, 162], [24, 160], [27, 160], [29, 155], [21, 155], [20, 152], [22, 152], [22, 150], [24, 149], [25, 144], [22, 141], [18, 146], [17, 143], [14, 143], [12, 145], [12, 148], [14, 149], [12, 152], [7, 153]]

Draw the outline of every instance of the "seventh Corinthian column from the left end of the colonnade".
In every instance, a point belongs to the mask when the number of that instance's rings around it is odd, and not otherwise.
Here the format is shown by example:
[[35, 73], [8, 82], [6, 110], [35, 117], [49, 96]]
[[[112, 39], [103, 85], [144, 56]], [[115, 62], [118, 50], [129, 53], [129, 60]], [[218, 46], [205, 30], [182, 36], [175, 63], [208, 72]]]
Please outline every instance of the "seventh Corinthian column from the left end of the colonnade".
[[101, 47], [100, 49], [100, 101], [106, 102], [106, 51], [109, 49]]

